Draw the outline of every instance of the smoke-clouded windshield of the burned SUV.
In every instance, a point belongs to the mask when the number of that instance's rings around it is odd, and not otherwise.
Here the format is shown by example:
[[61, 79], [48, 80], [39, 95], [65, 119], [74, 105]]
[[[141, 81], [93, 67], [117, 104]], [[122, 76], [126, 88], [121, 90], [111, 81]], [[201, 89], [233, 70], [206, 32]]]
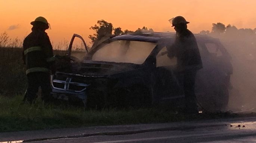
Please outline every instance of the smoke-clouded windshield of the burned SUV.
[[143, 64], [156, 43], [117, 40], [104, 44], [92, 55], [93, 61]]

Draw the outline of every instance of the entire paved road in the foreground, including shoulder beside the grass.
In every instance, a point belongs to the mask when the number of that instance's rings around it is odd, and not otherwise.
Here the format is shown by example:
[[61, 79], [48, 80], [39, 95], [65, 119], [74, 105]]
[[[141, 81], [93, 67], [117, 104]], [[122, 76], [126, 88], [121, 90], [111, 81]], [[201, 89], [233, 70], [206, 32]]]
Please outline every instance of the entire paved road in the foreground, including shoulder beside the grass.
[[[16, 141], [29, 143], [256, 143], [255, 121], [256, 117], [251, 117], [164, 124], [86, 127], [70, 129], [70, 132], [67, 129], [60, 129], [45, 131], [52, 136], [41, 134], [41, 138], [36, 137], [36, 135], [43, 132], [27, 131], [16, 133], [16, 138], [13, 139], [24, 139], [23, 141]], [[55, 134], [55, 132], [59, 133]], [[8, 136], [11, 136], [11, 133], [0, 133], [0, 138], [8, 139]], [[0, 140], [0, 143], [4, 142]]]

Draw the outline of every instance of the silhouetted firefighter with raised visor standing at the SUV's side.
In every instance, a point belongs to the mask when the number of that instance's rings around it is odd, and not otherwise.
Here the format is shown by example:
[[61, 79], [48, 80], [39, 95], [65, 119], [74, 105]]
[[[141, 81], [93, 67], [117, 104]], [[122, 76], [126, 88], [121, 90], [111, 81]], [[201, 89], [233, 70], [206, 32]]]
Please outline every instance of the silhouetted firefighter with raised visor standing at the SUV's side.
[[197, 100], [195, 97], [195, 77], [197, 71], [203, 68], [200, 52], [195, 36], [187, 29], [184, 17], [177, 16], [170, 19], [172, 27], [176, 31], [176, 39], [173, 45], [167, 46], [167, 56], [177, 58], [176, 70], [181, 75], [181, 83], [185, 94], [185, 113], [197, 114]]

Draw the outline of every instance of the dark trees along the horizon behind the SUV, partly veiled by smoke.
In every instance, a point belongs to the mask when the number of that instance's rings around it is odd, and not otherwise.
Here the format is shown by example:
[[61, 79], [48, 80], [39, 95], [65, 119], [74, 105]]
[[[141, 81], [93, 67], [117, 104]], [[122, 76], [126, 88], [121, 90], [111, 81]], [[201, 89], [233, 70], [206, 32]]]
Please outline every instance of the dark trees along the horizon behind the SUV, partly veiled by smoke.
[[[129, 33], [138, 33], [138, 32], [154, 32], [153, 29], [148, 29], [147, 27], [138, 28], [135, 31], [132, 30], [122, 30], [121, 27], [113, 27], [112, 23], [109, 23], [105, 20], [98, 20], [97, 24], [90, 27], [91, 30], [94, 30], [95, 33], [93, 35], [89, 35], [91, 39], [90, 43], [95, 43], [97, 39], [101, 39], [104, 36], [110, 37], [112, 35], [120, 35], [120, 34], [129, 34]], [[209, 35], [215, 38], [221, 38], [225, 40], [244, 40], [248, 41], [248, 39], [256, 39], [256, 28], [241, 28], [238, 29], [236, 26], [231, 26], [228, 24], [225, 26], [223, 23], [213, 23], [212, 29], [210, 30], [202, 30], [199, 32], [200, 35]]]

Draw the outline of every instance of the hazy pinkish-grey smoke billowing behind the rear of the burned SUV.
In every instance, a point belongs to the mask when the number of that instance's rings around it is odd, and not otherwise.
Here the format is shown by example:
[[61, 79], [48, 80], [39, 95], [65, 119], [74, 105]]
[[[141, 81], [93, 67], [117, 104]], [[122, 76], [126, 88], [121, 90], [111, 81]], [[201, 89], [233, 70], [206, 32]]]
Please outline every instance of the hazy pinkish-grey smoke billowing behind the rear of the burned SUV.
[[256, 108], [256, 34], [252, 29], [226, 29], [219, 38], [232, 56], [233, 74], [229, 107], [231, 110]]

